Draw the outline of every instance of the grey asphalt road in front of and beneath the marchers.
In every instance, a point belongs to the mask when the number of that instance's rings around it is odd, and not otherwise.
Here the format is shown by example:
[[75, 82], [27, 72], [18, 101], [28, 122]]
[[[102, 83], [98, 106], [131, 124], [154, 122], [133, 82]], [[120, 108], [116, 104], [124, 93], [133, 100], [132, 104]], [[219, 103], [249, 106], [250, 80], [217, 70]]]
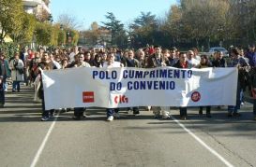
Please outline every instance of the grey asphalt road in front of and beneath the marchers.
[[242, 117], [227, 118], [227, 107], [213, 107], [213, 118], [188, 109], [188, 120], [154, 119], [121, 111], [121, 118], [105, 121], [104, 109], [88, 108], [87, 118], [71, 119], [73, 111], [40, 121], [40, 104], [33, 92], [8, 92], [0, 109], [1, 167], [170, 167], [256, 166], [256, 121], [252, 105]]

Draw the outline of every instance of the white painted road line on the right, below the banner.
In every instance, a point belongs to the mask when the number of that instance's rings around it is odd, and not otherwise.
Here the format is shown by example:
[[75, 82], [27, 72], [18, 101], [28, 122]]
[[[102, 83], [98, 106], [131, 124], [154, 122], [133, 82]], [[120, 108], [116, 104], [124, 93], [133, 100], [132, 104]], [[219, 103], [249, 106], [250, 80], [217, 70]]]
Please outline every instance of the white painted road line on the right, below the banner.
[[[170, 116], [171, 118], [173, 118], [173, 116]], [[176, 118], [173, 118], [173, 120], [181, 127], [183, 128], [186, 132], [188, 132], [194, 139], [196, 139], [196, 141], [198, 141], [202, 146], [204, 146], [208, 151], [210, 151], [213, 155], [215, 155], [218, 160], [221, 160], [223, 163], [225, 163], [228, 167], [233, 167], [233, 164], [231, 164], [228, 160], [225, 160], [222, 156], [220, 156], [218, 154], [218, 152], [216, 150], [214, 150], [211, 146], [207, 146], [203, 140], [201, 140], [196, 134], [194, 134], [193, 132], [189, 131], [185, 125], [183, 125], [182, 123], [180, 123], [179, 120], [177, 120]]]

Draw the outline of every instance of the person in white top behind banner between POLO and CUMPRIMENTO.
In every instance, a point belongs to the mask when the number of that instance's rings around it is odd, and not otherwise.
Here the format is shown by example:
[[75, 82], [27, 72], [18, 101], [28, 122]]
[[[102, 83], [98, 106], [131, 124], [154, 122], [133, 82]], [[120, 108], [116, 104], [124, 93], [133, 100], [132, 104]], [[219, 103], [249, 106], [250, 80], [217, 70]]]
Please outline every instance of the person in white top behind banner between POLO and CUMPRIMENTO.
[[[109, 52], [107, 56], [107, 62], [103, 63], [103, 67], [112, 68], [112, 67], [122, 67], [122, 63], [114, 61], [115, 56], [113, 52]], [[113, 121], [113, 117], [120, 118], [119, 108], [107, 108], [107, 121]]]

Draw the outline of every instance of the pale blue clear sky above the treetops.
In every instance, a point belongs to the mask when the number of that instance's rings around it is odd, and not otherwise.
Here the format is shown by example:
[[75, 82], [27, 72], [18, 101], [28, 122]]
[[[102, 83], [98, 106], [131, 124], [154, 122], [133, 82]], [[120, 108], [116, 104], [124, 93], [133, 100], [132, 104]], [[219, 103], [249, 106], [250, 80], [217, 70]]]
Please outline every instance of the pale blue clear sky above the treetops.
[[81, 29], [88, 29], [93, 21], [100, 25], [106, 21], [107, 12], [113, 12], [117, 20], [125, 25], [141, 15], [141, 11], [163, 17], [176, 0], [51, 0], [53, 21], [61, 14], [74, 16]]

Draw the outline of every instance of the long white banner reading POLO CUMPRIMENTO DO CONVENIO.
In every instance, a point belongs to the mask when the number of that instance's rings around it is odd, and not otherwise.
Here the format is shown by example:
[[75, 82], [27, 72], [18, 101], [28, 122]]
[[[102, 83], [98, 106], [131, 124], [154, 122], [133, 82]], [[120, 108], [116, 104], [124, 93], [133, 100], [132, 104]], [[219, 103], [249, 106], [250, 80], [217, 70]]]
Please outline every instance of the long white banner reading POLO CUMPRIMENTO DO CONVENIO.
[[46, 109], [234, 105], [236, 68], [82, 67], [44, 71]]

